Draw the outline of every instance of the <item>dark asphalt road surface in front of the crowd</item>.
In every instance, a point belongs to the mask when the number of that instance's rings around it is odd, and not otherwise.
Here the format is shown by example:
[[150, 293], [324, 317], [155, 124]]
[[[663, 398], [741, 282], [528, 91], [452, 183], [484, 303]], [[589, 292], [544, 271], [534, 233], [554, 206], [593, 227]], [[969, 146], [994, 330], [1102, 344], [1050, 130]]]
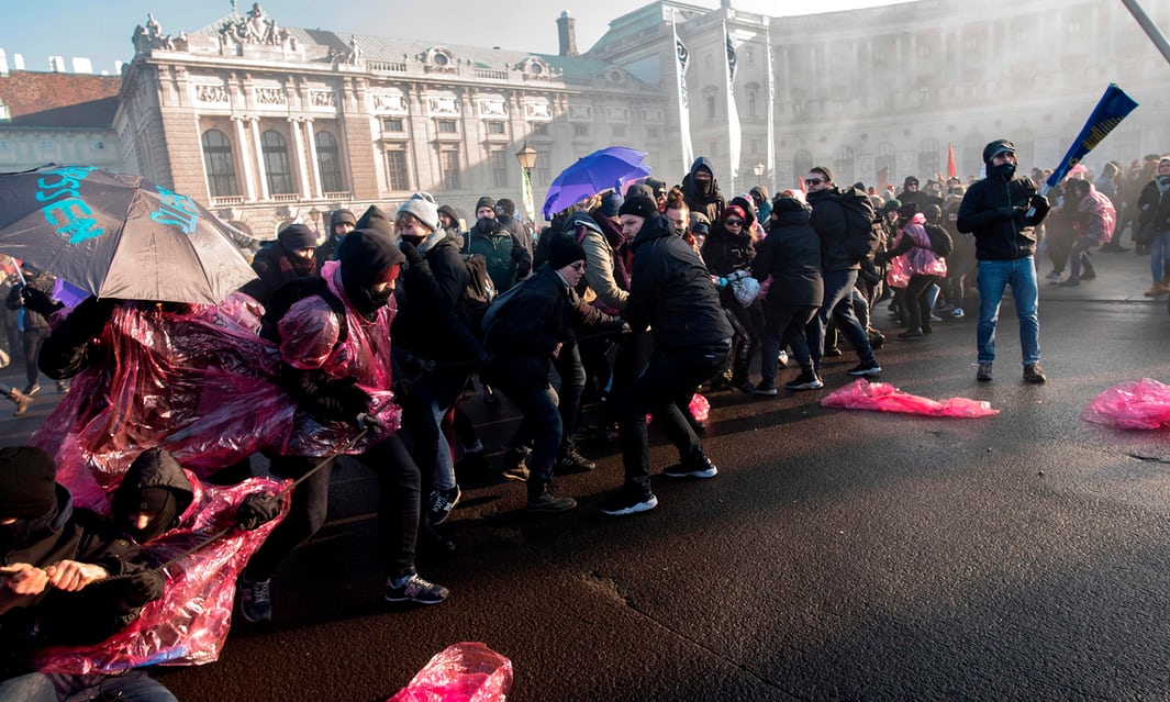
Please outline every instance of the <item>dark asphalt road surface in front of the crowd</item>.
[[[851, 353], [823, 391], [713, 394], [718, 476], [659, 479], [651, 512], [597, 510], [621, 476], [601, 443], [583, 447], [597, 470], [560, 480], [572, 512], [525, 514], [515, 483], [466, 489], [445, 526], [457, 550], [419, 559], [452, 590], [438, 607], [383, 600], [373, 479], [343, 464], [330, 522], [274, 579], [275, 622], [238, 622], [219, 662], [159, 677], [185, 701], [380, 701], [483, 641], [511, 660], [516, 702], [1170, 700], [1166, 429], [1080, 417], [1117, 383], [1170, 381], [1170, 317], [1142, 297], [1147, 259], [1094, 261], [1097, 281], [1041, 283], [1046, 385], [1020, 380], [1010, 304], [991, 384], [973, 309], [880, 352], [886, 383], [998, 415], [820, 407]], [[0, 435], [22, 440], [50, 401]], [[469, 407], [501, 446], [515, 412]], [[658, 441], [661, 469], [675, 456]]]

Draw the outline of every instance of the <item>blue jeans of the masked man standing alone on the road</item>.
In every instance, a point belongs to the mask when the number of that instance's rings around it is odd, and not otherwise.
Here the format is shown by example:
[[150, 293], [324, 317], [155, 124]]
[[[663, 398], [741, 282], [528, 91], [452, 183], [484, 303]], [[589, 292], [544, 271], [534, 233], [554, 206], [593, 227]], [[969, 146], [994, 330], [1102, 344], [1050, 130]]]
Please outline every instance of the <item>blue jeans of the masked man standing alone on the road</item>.
[[1039, 292], [1035, 287], [1035, 261], [1032, 256], [1014, 261], [979, 261], [979, 326], [976, 345], [979, 363], [996, 360], [996, 323], [999, 303], [1007, 285], [1012, 287], [1016, 316], [1020, 321], [1020, 353], [1024, 365], [1040, 360]]

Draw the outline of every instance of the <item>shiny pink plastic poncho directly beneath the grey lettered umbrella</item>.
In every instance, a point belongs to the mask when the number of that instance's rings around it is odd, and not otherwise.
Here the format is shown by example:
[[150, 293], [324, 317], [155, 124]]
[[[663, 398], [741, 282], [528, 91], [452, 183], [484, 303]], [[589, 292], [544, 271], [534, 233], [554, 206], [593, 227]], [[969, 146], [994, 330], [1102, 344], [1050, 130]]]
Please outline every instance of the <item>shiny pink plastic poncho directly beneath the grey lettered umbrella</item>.
[[[343, 422], [322, 427], [275, 384], [280, 351], [260, 338], [260, 314], [242, 294], [183, 312], [135, 304], [113, 309], [101, 336], [108, 360], [73, 378], [70, 392], [30, 439], [56, 459], [57, 482], [78, 505], [104, 514], [105, 495], [138, 454], [156, 446], [206, 477], [262, 448], [325, 456], [357, 436]], [[351, 333], [344, 352], [367, 353], [363, 338]], [[360, 453], [399, 426], [390, 378], [379, 380], [385, 384], [363, 388], [385, 431], [366, 434], [347, 453]]]

